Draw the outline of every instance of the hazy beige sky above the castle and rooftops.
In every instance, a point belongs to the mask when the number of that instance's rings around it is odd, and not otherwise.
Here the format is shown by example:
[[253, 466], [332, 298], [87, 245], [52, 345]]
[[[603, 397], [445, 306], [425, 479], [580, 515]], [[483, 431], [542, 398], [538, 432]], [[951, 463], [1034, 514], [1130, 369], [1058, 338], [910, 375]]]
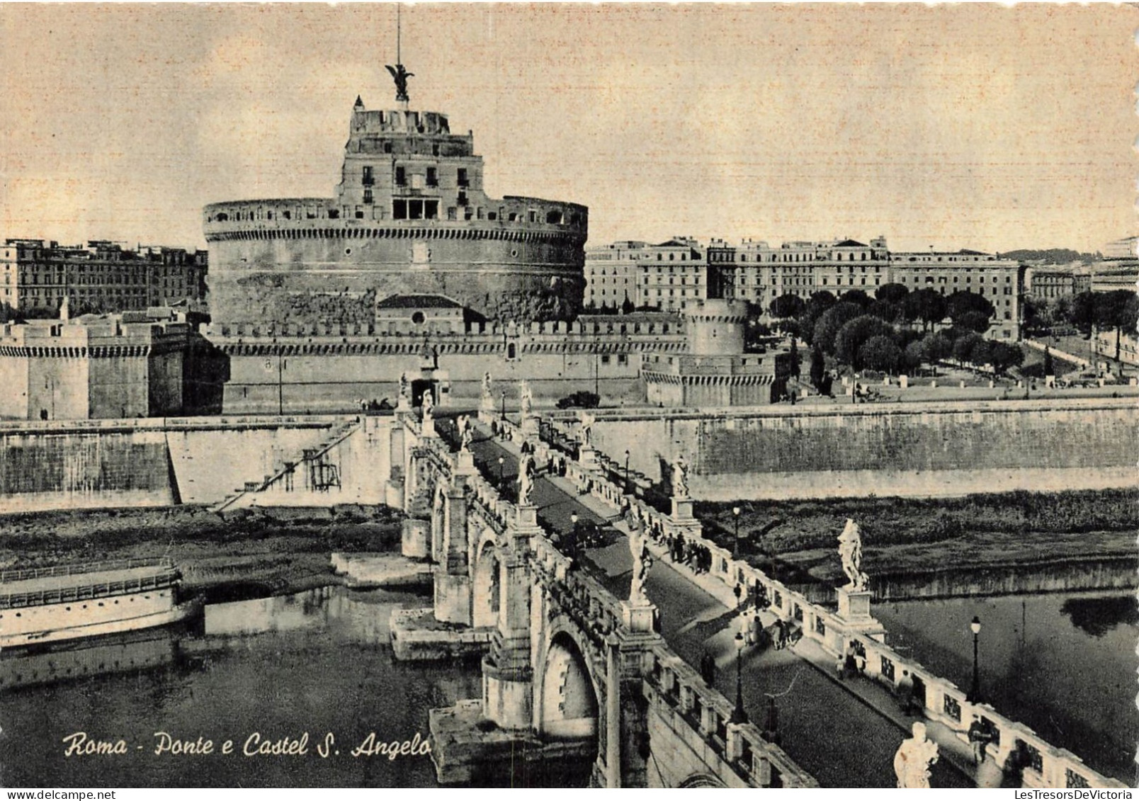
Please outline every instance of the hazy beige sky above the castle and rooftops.
[[[412, 108], [493, 196], [672, 235], [1097, 250], [1136, 230], [1139, 11], [417, 5]], [[0, 3], [0, 236], [203, 246], [205, 203], [331, 196], [395, 6]]]

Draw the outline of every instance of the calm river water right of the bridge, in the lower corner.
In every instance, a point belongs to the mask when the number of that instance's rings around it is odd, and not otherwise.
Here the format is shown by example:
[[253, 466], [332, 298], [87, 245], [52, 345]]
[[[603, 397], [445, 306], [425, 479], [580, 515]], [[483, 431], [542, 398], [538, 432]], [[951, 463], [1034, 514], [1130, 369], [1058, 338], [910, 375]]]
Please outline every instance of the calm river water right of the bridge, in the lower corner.
[[1059, 592], [875, 605], [887, 641], [962, 690], [978, 638], [982, 697], [1100, 773], [1136, 783], [1139, 607], [1124, 592]]

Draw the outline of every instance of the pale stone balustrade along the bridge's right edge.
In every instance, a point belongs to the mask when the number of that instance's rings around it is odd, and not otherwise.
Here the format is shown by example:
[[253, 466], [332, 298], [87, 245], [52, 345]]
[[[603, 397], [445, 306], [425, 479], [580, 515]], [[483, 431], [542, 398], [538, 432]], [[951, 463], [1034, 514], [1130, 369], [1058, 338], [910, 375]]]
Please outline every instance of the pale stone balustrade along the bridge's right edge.
[[[563, 424], [573, 420], [565, 414], [556, 414], [556, 419]], [[547, 435], [550, 438], [550, 442], [555, 442], [558, 434], [556, 424], [544, 426], [542, 431], [543, 433], [549, 432]], [[899, 654], [886, 645], [885, 631], [872, 619], [871, 624], [865, 620], [847, 621], [841, 618], [835, 610], [812, 603], [802, 594], [772, 579], [762, 570], [734, 558], [729, 550], [704, 538], [698, 522], [678, 522], [670, 515], [655, 509], [644, 499], [625, 495], [623, 488], [618, 488], [608, 479], [609, 474], [608, 471], [598, 469], [596, 466], [583, 466], [575, 461], [566, 465], [566, 476], [579, 487], [580, 491], [589, 492], [618, 509], [626, 506], [636, 509], [645, 522], [646, 530], [657, 546], [658, 553], [666, 551], [667, 539], [673, 536], [695, 540], [707, 548], [712, 555], [712, 564], [705, 577], [714, 579], [716, 583], [712, 587], [708, 587], [706, 581], [698, 583], [705, 589], [710, 589], [727, 605], [735, 606], [738, 603], [735, 595], [737, 587], [740, 590], [739, 600], [746, 600], [762, 587], [762, 592], [770, 602], [772, 612], [787, 621], [801, 624], [803, 636], [817, 641], [833, 656], [845, 655], [852, 649], [860, 651], [866, 654], [866, 676], [868, 678], [884, 684], [895, 692], [904, 683], [920, 687], [921, 692], [915, 693], [915, 700], [920, 704], [923, 714], [931, 720], [944, 724], [961, 739], [967, 737], [973, 714], [980, 714], [995, 733], [993, 742], [988, 746], [988, 753], [995, 759], [998, 765], [1002, 765], [1008, 754], [1016, 749], [1017, 741], [1023, 742], [1031, 758], [1031, 765], [1024, 771], [1024, 786], [1071, 788], [1118, 788], [1126, 786], [1122, 782], [1107, 778], [1092, 770], [1071, 751], [1049, 744], [1027, 726], [1002, 716], [989, 704], [967, 701], [966, 694], [952, 681], [936, 676], [917, 661]], [[688, 570], [682, 564], [674, 564], [674, 566], [682, 573]], [[654, 671], [662, 676], [661, 684], [655, 689], [662, 694], [662, 697], [667, 700], [667, 688], [677, 685], [688, 687], [686, 692], [690, 698], [687, 703], [694, 703], [691, 697], [696, 697], [696, 695], [693, 685], [699, 684], [699, 679], [686, 683], [680, 678], [686, 672], [693, 672], [690, 668], [685, 664], [670, 667], [666, 660], [661, 660], [654, 665]], [[716, 695], [719, 696], [719, 694]], [[681, 697], [682, 694], [678, 690], [674, 704], [678, 708]], [[722, 700], [722, 696], [719, 697]], [[707, 710], [706, 704], [702, 709]], [[730, 714], [730, 708], [728, 711]], [[704, 714], [711, 713], [705, 712]], [[794, 766], [794, 762], [790, 765]]]

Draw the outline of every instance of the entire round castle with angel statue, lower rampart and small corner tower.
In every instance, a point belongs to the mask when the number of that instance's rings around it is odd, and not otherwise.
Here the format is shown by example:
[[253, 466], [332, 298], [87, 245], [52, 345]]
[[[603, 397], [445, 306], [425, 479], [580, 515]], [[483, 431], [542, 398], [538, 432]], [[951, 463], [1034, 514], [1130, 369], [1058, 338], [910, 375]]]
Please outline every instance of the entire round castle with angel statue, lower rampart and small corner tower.
[[335, 197], [213, 203], [206, 336], [227, 361], [223, 410], [317, 411], [395, 401], [515, 398], [528, 379], [551, 401], [590, 390], [654, 404], [778, 399], [786, 354], [744, 351], [743, 304], [683, 316], [583, 316], [585, 206], [487, 197], [474, 136], [357, 98]]

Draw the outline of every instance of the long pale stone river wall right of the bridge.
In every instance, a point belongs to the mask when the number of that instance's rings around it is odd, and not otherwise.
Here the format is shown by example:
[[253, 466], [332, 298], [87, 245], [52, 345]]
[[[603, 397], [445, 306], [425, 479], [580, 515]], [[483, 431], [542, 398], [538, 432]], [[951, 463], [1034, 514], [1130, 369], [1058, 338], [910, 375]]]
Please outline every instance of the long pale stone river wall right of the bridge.
[[669, 481], [683, 453], [700, 500], [961, 496], [1133, 487], [1139, 409], [1079, 399], [608, 412], [597, 447]]

